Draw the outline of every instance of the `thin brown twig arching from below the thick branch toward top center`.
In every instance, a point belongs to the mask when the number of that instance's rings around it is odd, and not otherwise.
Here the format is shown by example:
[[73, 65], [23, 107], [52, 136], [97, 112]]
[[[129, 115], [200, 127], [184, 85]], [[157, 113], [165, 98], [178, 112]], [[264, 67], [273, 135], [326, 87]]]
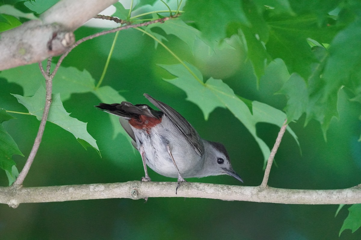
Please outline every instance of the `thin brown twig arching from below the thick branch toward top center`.
[[121, 26], [121, 27], [117, 27], [117, 28], [113, 28], [113, 29], [110, 29], [110, 30], [106, 30], [106, 31], [103, 31], [103, 32], [98, 32], [98, 33], [95, 33], [93, 35], [90, 35], [90, 36], [87, 36], [87, 37], [83, 37], [82, 39], [76, 41], [71, 47], [69, 47], [69, 49], [63, 54], [61, 55], [61, 57], [59, 58], [56, 66], [55, 66], [55, 69], [54, 71], [52, 72], [51, 76], [54, 77], [56, 72], [58, 71], [59, 67], [60, 67], [60, 64], [62, 63], [62, 61], [64, 60], [64, 58], [70, 53], [71, 50], [74, 49], [74, 47], [78, 46], [79, 44], [81, 44], [82, 42], [85, 42], [87, 40], [90, 40], [90, 39], [93, 39], [95, 37], [99, 37], [99, 36], [103, 36], [105, 34], [108, 34], [108, 33], [113, 33], [113, 32], [117, 32], [117, 31], [121, 31], [121, 30], [126, 30], [126, 29], [129, 29], [129, 28], [136, 28], [136, 27], [144, 27], [144, 26], [148, 26], [150, 24], [153, 24], [153, 23], [159, 23], [159, 22], [164, 22], [164, 21], [167, 21], [171, 18], [176, 18], [178, 17], [178, 15], [174, 15], [173, 17], [165, 17], [165, 18], [160, 18], [160, 19], [156, 19], [156, 20], [153, 20], [153, 21], [149, 21], [149, 22], [144, 22], [144, 23], [137, 23], [137, 24], [131, 24], [131, 25], [126, 25], [126, 26]]

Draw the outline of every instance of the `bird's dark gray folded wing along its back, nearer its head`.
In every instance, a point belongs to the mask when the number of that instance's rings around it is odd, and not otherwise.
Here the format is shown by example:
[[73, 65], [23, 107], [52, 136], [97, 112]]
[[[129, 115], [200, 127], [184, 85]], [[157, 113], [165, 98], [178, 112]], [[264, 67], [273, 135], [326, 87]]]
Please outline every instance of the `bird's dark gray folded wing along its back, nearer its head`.
[[157, 108], [159, 108], [164, 114], [169, 117], [173, 122], [175, 127], [178, 128], [179, 132], [187, 139], [188, 143], [194, 148], [196, 153], [200, 156], [204, 153], [203, 142], [198, 135], [197, 131], [192, 127], [192, 125], [176, 110], [169, 107], [167, 104], [158, 101], [152, 98], [149, 94], [144, 94], [144, 96]]

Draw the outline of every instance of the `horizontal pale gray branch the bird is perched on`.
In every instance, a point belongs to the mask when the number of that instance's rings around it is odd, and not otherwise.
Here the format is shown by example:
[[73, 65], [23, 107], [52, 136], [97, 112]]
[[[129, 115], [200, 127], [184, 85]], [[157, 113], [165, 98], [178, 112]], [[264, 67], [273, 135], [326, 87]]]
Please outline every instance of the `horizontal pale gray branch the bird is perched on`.
[[361, 203], [361, 186], [336, 190], [279, 189], [184, 182], [175, 194], [175, 182], [130, 181], [49, 187], [0, 187], [0, 203], [44, 203], [107, 198], [186, 197], [283, 204]]

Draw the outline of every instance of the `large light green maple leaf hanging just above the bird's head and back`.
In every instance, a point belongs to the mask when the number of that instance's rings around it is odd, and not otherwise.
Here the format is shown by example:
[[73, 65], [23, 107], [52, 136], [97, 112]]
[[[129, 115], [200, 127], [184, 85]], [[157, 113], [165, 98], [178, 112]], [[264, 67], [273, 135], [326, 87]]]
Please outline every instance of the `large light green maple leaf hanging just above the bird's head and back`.
[[[174, 79], [164, 79], [165, 81], [179, 87], [187, 93], [187, 100], [197, 104], [202, 110], [205, 119], [208, 119], [209, 113], [217, 107], [228, 108], [240, 122], [248, 129], [257, 141], [265, 162], [267, 161], [270, 149], [266, 143], [257, 136], [256, 124], [258, 122], [266, 122], [276, 124], [281, 127], [286, 114], [282, 111], [272, 108], [269, 105], [253, 101], [252, 113], [249, 110], [249, 101], [242, 101], [236, 96], [233, 90], [222, 80], [209, 78], [205, 83], [203, 76], [193, 65], [185, 63], [175, 65], [158, 65], [176, 76]], [[290, 127], [287, 130], [297, 141], [295, 133]], [[298, 144], [298, 141], [297, 141]]]

